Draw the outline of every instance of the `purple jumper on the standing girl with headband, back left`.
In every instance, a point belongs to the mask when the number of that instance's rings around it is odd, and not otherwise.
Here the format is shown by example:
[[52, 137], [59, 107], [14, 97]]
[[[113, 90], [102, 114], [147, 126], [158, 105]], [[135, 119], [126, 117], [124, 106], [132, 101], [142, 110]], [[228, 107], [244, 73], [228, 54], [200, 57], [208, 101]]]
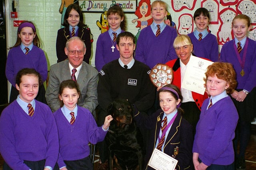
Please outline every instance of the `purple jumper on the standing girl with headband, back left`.
[[20, 45], [10, 49], [6, 61], [5, 75], [14, 87], [16, 84], [16, 74], [22, 68], [34, 68], [42, 76], [44, 82], [48, 75], [44, 51], [35, 45], [27, 55], [23, 53]]

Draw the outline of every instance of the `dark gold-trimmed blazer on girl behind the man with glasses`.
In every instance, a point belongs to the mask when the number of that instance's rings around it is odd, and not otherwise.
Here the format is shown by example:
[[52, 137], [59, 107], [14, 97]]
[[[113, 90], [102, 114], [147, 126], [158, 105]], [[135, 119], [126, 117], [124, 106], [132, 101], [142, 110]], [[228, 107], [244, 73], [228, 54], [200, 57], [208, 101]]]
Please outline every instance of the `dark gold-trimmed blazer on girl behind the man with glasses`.
[[[89, 64], [89, 59], [92, 53], [90, 31], [86, 28], [79, 27], [78, 37], [80, 37], [86, 45], [86, 53], [84, 55], [84, 61]], [[64, 51], [64, 48], [66, 46], [66, 42], [68, 41], [68, 39], [70, 39], [70, 31], [68, 27], [59, 29], [57, 39], [56, 39], [56, 53], [58, 58], [57, 62], [68, 59], [68, 56], [65, 54], [65, 51]]]

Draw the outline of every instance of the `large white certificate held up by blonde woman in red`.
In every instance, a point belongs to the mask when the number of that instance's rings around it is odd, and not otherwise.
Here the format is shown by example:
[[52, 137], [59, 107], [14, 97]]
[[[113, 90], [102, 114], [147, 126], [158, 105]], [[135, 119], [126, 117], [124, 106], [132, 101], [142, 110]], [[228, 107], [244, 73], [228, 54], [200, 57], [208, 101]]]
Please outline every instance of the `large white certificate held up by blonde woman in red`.
[[192, 92], [203, 95], [205, 91], [205, 72], [207, 70], [207, 67], [212, 63], [212, 61], [208, 61], [191, 55], [181, 84], [181, 88], [185, 88]]

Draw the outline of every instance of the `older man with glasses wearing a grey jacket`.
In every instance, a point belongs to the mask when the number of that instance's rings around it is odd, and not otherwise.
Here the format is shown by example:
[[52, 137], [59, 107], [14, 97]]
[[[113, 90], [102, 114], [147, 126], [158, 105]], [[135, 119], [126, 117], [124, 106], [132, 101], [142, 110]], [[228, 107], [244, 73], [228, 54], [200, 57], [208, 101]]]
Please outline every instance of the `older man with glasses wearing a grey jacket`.
[[52, 111], [60, 108], [58, 98], [59, 86], [63, 80], [72, 79], [77, 82], [81, 91], [78, 105], [87, 108], [93, 113], [97, 101], [98, 71], [83, 61], [86, 46], [79, 37], [72, 37], [66, 42], [65, 53], [68, 59], [50, 67], [46, 101]]

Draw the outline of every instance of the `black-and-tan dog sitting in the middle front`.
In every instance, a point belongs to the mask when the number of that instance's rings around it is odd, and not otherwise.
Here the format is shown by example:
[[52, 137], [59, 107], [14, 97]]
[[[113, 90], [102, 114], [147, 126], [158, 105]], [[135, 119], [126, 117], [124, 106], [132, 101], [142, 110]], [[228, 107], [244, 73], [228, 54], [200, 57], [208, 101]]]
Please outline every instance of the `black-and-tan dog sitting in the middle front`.
[[143, 168], [143, 139], [133, 120], [130, 102], [117, 99], [107, 109], [112, 115], [106, 143], [109, 151], [109, 169], [135, 170]]

